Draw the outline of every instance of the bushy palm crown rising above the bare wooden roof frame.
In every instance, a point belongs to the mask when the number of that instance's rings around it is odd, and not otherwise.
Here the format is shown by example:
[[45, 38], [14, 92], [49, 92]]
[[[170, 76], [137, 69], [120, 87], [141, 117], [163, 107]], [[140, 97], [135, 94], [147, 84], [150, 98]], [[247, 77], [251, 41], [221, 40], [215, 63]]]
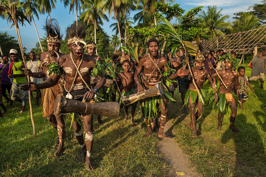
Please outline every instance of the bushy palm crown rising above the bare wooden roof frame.
[[232, 29], [230, 23], [225, 22], [229, 18], [229, 15], [222, 16], [222, 9], [217, 11], [217, 6], [208, 6], [207, 12], [204, 10], [199, 14], [199, 18], [203, 19], [201, 23], [202, 27], [206, 30], [206, 33], [211, 37], [225, 35], [219, 29]]

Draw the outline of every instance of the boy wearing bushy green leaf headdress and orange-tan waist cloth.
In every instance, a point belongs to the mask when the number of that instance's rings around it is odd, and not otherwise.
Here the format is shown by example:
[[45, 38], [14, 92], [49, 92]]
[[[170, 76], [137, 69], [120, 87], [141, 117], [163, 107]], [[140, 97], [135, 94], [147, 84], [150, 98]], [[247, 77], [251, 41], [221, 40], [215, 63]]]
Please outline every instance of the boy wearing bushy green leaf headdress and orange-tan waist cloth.
[[[239, 83], [238, 83], [238, 74], [232, 70], [232, 67], [234, 67], [236, 64], [238, 64], [239, 60], [236, 58], [233, 58], [231, 54], [225, 54], [222, 55], [219, 58], [220, 62], [223, 62], [225, 69], [218, 70], [218, 74], [222, 78], [224, 84], [222, 81], [220, 81], [220, 86], [218, 90], [218, 101], [217, 103], [214, 103], [216, 107], [219, 108], [218, 113], [218, 130], [221, 130], [222, 128], [222, 116], [223, 113], [226, 112], [226, 104], [227, 102], [230, 105], [231, 108], [231, 115], [230, 115], [230, 127], [229, 129], [233, 130], [234, 132], [239, 132], [237, 128], [234, 126], [235, 118], [236, 118], [236, 111], [237, 111], [237, 102], [239, 98]], [[211, 78], [217, 77], [217, 73], [214, 73], [211, 75]], [[233, 92], [235, 85], [236, 94]]]

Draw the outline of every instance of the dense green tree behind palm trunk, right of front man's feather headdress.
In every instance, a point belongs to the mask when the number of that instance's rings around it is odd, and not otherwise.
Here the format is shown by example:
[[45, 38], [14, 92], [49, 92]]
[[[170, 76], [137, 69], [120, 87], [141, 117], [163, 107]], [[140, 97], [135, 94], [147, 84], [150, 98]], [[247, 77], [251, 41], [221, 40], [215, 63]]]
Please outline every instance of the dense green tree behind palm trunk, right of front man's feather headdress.
[[[86, 29], [85, 42], [88, 43], [89, 41], [94, 41], [94, 26], [89, 26]], [[98, 55], [102, 58], [111, 57], [110, 36], [100, 26], [96, 32], [96, 42]]]

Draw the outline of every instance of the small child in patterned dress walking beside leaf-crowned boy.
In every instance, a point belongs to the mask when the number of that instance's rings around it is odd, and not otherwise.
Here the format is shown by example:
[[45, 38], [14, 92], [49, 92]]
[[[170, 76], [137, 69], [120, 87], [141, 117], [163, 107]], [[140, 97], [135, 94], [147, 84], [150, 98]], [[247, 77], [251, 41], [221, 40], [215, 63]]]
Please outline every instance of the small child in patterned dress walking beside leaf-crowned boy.
[[254, 89], [251, 87], [250, 83], [248, 82], [248, 77], [245, 76], [245, 67], [239, 66], [237, 72], [238, 76], [238, 83], [239, 83], [239, 107], [240, 109], [243, 108], [243, 103], [248, 99], [248, 87], [251, 89], [252, 93], [254, 93]]

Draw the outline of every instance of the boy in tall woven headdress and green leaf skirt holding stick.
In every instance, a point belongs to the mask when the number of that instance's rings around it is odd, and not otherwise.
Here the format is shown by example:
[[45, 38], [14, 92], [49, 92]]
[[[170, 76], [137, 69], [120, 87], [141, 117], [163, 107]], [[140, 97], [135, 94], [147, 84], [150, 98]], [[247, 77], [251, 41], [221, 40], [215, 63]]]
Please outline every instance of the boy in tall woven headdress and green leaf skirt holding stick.
[[[196, 61], [196, 67], [191, 67], [191, 71], [193, 75], [190, 77], [189, 90], [186, 92], [185, 103], [184, 103], [184, 106], [186, 106], [189, 103], [189, 107], [190, 107], [191, 122], [188, 126], [192, 129], [192, 132], [193, 132], [192, 137], [197, 136], [196, 121], [203, 112], [202, 102], [204, 102], [205, 104], [207, 103], [206, 91], [205, 89], [202, 89], [205, 76], [210, 81], [211, 87], [213, 88], [215, 101], [218, 100], [216, 87], [210, 77], [210, 72], [206, 68], [203, 69], [203, 66], [205, 65], [205, 56], [201, 54], [200, 51], [197, 52], [195, 61]], [[210, 69], [211, 69], [211, 66], [212, 64], [209, 63]], [[194, 79], [196, 86], [194, 85], [192, 79]], [[199, 89], [201, 96], [198, 96], [197, 89]], [[198, 106], [197, 112], [196, 112], [196, 104]]]

